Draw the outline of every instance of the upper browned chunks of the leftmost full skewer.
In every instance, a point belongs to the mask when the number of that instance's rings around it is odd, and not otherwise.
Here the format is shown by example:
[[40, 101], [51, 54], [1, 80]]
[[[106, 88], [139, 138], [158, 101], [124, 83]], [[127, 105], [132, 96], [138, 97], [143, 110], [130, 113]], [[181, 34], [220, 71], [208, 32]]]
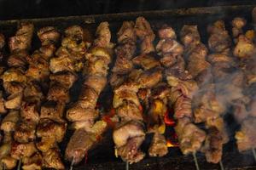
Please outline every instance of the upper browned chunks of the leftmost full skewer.
[[14, 37], [9, 38], [10, 56], [7, 60], [9, 69], [3, 73], [3, 88], [9, 94], [5, 101], [7, 109], [20, 109], [23, 91], [26, 85], [26, 58], [33, 34], [31, 23], [20, 23]]

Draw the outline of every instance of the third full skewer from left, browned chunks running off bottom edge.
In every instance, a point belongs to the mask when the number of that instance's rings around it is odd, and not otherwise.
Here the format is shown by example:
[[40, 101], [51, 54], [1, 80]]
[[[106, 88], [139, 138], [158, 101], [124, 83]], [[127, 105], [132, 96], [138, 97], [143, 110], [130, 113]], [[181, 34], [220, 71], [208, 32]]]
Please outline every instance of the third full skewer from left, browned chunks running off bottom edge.
[[56, 57], [49, 59], [49, 71], [52, 74], [49, 75], [47, 101], [41, 106], [37, 128], [37, 136], [41, 139], [37, 147], [42, 151], [43, 167], [65, 168], [57, 144], [64, 138], [67, 129], [63, 112], [70, 100], [69, 88], [77, 80], [76, 71], [80, 71], [83, 65], [86, 50], [83, 36], [84, 31], [80, 26], [68, 27], [61, 47], [55, 53]]

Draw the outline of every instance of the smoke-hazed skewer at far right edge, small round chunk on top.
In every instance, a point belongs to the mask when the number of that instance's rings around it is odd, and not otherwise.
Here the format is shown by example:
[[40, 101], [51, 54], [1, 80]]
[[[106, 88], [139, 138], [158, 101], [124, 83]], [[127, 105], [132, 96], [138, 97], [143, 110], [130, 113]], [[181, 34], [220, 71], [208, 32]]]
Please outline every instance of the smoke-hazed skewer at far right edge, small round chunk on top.
[[[247, 21], [243, 18], [236, 17], [232, 20], [232, 30], [239, 30], [239, 34], [234, 35], [234, 42], [236, 46], [234, 48], [233, 54], [235, 57], [240, 59], [241, 70], [244, 72], [246, 77], [246, 85], [250, 88], [250, 85], [254, 82], [255, 77], [255, 45], [253, 44], [253, 38], [255, 32], [253, 30], [247, 31], [245, 34], [242, 31], [243, 26], [246, 26]], [[236, 132], [236, 144], [240, 152], [245, 150], [252, 150], [253, 157], [256, 161], [255, 148], [254, 144], [254, 135], [253, 129], [255, 128], [255, 116], [253, 112], [255, 111], [255, 99], [252, 96], [249, 96], [248, 102], [240, 102], [239, 105], [235, 105], [236, 112], [235, 118], [238, 122], [241, 122], [241, 129]], [[240, 108], [244, 109], [240, 109]]]

